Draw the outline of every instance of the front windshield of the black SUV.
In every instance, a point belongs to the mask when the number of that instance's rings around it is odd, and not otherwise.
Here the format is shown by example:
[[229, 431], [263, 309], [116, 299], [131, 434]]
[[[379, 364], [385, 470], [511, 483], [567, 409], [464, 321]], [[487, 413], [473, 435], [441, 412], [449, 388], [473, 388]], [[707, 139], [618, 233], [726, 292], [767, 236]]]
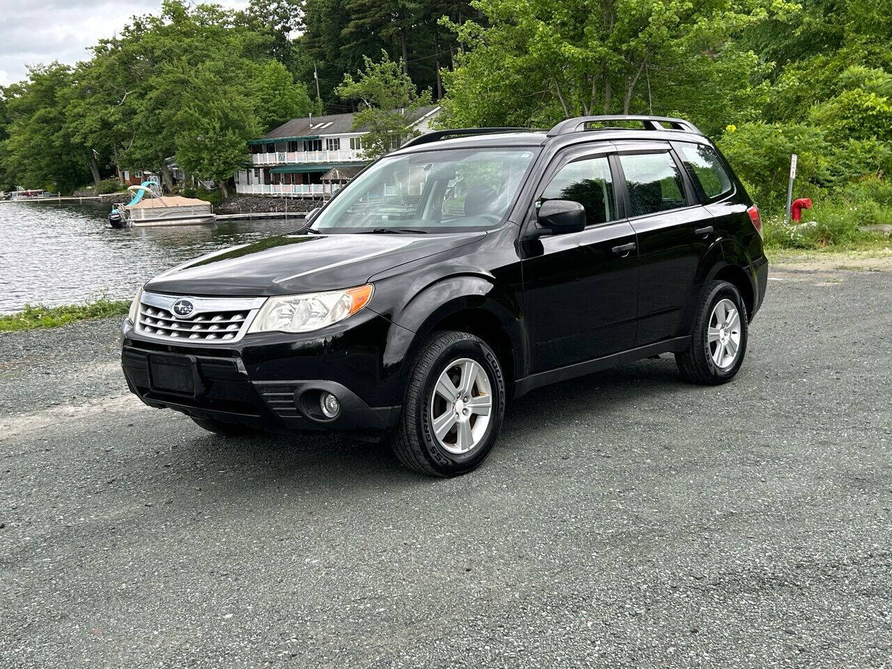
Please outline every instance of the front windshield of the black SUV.
[[385, 157], [344, 186], [310, 229], [399, 234], [497, 227], [533, 154], [530, 147], [513, 147]]

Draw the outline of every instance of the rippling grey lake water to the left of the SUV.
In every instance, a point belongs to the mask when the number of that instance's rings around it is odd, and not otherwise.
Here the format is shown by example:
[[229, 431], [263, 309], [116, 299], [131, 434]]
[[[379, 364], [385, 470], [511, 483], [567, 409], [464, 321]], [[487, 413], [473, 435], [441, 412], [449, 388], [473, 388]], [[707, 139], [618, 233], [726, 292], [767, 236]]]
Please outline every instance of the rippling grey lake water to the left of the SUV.
[[0, 313], [99, 295], [130, 299], [147, 279], [202, 253], [281, 235], [296, 219], [111, 228], [109, 204], [0, 202]]

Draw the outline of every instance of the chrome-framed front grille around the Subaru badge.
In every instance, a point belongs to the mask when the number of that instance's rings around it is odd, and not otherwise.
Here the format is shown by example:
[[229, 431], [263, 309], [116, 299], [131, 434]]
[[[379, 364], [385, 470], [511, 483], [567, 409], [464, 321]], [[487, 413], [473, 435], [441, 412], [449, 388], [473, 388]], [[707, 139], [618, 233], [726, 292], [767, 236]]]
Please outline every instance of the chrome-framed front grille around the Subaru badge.
[[[192, 309], [178, 316], [174, 304], [187, 301]], [[198, 298], [143, 293], [136, 332], [166, 340], [233, 342], [241, 339], [263, 298]]]

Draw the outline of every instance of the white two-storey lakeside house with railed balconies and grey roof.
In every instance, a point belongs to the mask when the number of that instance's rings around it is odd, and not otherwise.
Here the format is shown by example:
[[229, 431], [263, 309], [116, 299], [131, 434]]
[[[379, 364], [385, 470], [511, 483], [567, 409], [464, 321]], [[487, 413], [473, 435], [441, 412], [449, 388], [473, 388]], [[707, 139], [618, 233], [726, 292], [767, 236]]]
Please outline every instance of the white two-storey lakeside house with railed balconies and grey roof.
[[[421, 132], [440, 107], [422, 107], [411, 127]], [[252, 139], [251, 164], [235, 173], [235, 192], [251, 195], [332, 194], [368, 161], [362, 158], [364, 128], [353, 129], [353, 114], [292, 119], [261, 139]]]

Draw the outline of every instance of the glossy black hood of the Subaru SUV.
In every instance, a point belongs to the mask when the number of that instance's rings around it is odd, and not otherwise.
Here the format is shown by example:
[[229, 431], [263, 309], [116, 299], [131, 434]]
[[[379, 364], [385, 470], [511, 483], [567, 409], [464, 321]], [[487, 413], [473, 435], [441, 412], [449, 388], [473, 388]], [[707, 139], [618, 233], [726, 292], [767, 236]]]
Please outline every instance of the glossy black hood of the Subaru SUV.
[[186, 262], [153, 278], [145, 290], [195, 296], [337, 290], [485, 235], [281, 235]]

